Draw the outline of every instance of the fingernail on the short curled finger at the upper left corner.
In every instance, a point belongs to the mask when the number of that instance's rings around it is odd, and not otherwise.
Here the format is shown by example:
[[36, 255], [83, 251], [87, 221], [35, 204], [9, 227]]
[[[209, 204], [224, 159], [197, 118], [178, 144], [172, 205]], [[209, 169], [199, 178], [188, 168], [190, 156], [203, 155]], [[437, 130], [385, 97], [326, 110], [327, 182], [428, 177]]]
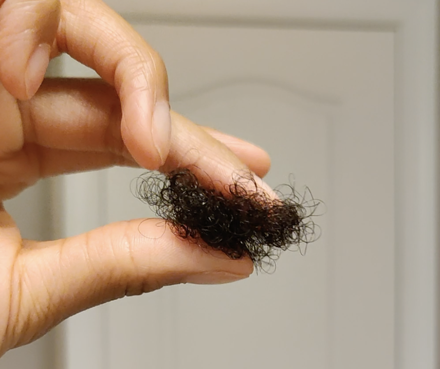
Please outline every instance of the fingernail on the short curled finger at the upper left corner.
[[50, 60], [51, 47], [48, 44], [41, 44], [36, 47], [27, 62], [27, 69], [24, 76], [27, 98], [31, 98], [40, 88]]

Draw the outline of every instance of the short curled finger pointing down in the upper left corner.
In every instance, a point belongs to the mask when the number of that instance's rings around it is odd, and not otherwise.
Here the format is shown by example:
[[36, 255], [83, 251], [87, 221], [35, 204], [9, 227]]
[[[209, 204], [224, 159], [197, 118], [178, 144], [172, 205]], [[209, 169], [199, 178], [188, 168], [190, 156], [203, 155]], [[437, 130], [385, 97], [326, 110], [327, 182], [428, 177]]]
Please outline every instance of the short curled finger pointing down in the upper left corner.
[[15, 98], [40, 87], [59, 18], [59, 0], [0, 0], [0, 81]]

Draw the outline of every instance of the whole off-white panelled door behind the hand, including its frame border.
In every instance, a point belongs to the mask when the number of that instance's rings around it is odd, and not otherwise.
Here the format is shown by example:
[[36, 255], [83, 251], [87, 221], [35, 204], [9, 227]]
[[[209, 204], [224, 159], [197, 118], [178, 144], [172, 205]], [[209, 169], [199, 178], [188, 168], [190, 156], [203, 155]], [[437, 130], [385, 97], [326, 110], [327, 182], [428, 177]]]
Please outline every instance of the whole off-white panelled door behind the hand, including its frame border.
[[[324, 201], [322, 237], [304, 257], [283, 254], [273, 275], [167, 287], [74, 317], [65, 326], [66, 367], [433, 368], [435, 208], [425, 179], [434, 153], [435, 2], [259, 2], [249, 19], [244, 1], [188, 14], [177, 3], [115, 7], [164, 58], [174, 110], [265, 148], [269, 184], [293, 174]], [[170, 9], [175, 17], [164, 17]], [[130, 18], [134, 11], [141, 15]], [[68, 59], [63, 68], [88, 73]], [[105, 186], [96, 224], [148, 217], [130, 192], [141, 173], [70, 176], [65, 191], [98, 179], [95, 198]], [[68, 205], [65, 222], [82, 210]], [[70, 232], [85, 230], [75, 224]]]

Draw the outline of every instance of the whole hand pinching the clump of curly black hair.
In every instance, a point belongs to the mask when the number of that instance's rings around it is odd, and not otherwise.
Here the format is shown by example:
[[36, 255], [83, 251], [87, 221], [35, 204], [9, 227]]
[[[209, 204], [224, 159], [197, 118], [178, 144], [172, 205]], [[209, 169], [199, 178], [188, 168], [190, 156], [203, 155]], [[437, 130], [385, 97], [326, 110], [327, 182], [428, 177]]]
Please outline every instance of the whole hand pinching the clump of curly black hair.
[[[102, 81], [43, 81], [49, 58], [63, 52]], [[0, 355], [112, 299], [252, 273], [249, 259], [204, 252], [156, 219], [36, 242], [4, 209], [41, 178], [113, 165], [196, 165], [202, 180], [226, 184], [237, 171], [269, 170], [262, 149], [170, 112], [162, 59], [99, 0], [0, 1], [0, 106]]]

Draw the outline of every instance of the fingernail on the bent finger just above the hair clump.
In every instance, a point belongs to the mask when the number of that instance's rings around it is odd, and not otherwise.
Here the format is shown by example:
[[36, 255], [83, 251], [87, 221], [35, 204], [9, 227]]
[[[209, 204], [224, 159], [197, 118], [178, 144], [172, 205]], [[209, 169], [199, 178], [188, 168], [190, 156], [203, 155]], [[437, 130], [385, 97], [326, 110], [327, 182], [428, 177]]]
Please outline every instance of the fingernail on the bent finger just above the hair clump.
[[168, 102], [156, 102], [151, 129], [153, 142], [163, 165], [170, 150], [171, 140], [171, 114]]

